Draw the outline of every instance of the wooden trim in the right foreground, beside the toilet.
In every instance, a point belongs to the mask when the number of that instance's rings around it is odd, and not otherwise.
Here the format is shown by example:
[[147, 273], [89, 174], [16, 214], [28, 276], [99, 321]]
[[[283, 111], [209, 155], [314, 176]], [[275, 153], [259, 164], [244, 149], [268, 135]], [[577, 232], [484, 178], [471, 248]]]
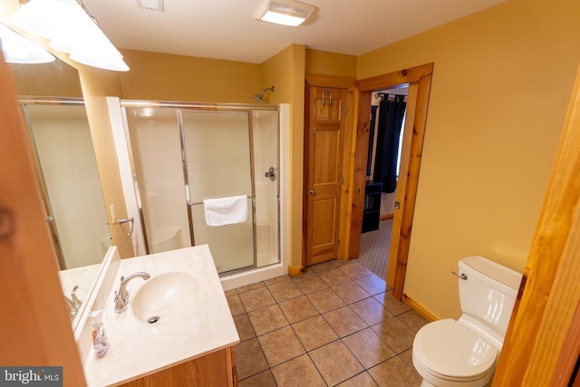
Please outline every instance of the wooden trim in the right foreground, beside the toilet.
[[580, 69], [494, 386], [565, 386], [580, 352]]

